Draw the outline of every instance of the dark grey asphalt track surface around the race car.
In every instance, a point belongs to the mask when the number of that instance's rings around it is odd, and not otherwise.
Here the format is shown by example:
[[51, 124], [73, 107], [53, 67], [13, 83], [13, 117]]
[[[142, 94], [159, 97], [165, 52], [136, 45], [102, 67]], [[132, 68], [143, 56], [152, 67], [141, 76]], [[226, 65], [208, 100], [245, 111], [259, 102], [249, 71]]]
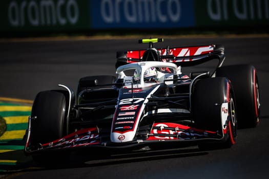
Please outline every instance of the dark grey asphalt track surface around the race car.
[[[261, 122], [238, 130], [229, 149], [199, 151], [196, 146], [118, 155], [77, 154], [58, 166], [28, 164], [8, 178], [268, 178], [269, 37], [167, 38], [156, 47], [223, 44], [228, 64], [253, 64], [258, 71]], [[39, 91], [65, 84], [76, 91], [84, 76], [115, 74], [116, 51], [144, 49], [134, 39], [0, 42], [0, 96], [33, 100]], [[211, 64], [205, 68], [211, 68]], [[183, 69], [184, 70], [184, 69]], [[244, 89], [242, 89], [244, 90]]]

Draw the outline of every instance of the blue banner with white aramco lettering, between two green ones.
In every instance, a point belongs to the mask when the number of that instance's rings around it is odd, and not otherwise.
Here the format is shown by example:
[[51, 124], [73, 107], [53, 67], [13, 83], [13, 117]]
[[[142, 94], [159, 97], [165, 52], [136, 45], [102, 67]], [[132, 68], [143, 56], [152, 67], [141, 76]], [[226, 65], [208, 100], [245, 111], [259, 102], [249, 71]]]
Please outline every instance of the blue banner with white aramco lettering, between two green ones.
[[193, 0], [90, 0], [92, 29], [194, 27]]

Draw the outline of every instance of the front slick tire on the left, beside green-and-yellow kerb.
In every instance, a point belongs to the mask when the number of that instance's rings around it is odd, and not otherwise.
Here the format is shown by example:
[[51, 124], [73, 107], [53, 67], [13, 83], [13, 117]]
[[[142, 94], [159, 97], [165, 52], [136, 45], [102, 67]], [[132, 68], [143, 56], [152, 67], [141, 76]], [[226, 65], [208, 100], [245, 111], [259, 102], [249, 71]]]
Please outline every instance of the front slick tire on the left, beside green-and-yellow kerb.
[[[30, 146], [34, 149], [67, 135], [67, 99], [64, 93], [65, 91], [43, 91], [36, 95], [31, 111], [30, 135]], [[56, 159], [51, 153], [32, 156], [39, 163]], [[57, 156], [59, 159], [59, 155]]]

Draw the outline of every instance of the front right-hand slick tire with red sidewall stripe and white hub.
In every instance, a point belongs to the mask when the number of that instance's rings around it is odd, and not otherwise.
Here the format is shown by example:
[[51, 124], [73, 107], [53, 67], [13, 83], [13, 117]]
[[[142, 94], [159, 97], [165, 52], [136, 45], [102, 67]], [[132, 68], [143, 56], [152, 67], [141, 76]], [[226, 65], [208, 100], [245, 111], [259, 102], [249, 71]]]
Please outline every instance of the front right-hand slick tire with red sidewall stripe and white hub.
[[[206, 78], [197, 81], [192, 93], [191, 111], [196, 128], [222, 133], [223, 136], [220, 142], [199, 144], [200, 149], [227, 148], [235, 143], [236, 105], [233, 86], [227, 78]], [[222, 115], [227, 116], [226, 119]]]

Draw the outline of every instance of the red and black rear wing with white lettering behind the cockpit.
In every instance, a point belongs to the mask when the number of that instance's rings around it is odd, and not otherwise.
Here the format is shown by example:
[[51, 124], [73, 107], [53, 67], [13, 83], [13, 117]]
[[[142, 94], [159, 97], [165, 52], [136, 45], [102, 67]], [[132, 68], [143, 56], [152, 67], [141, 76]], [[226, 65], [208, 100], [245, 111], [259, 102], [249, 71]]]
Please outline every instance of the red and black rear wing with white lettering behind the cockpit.
[[[212, 59], [218, 59], [220, 67], [225, 58], [224, 47], [221, 44], [212, 44], [192, 47], [176, 47], [157, 49], [161, 60], [172, 62], [180, 66], [192, 66], [204, 63]], [[116, 68], [118, 66], [143, 61], [142, 56], [146, 50], [130, 50], [126, 52], [117, 52]]]

